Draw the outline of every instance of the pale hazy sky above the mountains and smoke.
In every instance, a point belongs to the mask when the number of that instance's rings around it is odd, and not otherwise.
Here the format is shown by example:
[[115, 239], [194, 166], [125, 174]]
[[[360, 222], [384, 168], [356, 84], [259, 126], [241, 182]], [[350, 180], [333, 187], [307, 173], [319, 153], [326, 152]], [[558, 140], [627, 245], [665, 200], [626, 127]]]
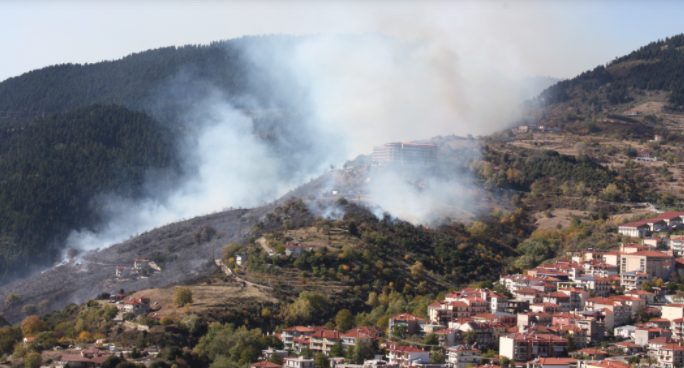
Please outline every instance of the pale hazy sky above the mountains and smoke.
[[677, 1], [0, 1], [0, 80], [242, 35], [367, 32], [446, 32], [520, 55], [526, 74], [570, 77], [684, 32], [682, 20]]

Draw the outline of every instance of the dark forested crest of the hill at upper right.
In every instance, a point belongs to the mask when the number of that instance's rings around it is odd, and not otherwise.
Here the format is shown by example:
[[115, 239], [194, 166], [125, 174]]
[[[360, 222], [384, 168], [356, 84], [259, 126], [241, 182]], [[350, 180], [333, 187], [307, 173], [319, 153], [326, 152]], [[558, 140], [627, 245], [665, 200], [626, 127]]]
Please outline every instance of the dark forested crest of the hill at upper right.
[[668, 107], [684, 109], [684, 34], [650, 43], [606, 65], [561, 81], [540, 96], [547, 105], [573, 99], [593, 105], [632, 101], [639, 91], [668, 93]]

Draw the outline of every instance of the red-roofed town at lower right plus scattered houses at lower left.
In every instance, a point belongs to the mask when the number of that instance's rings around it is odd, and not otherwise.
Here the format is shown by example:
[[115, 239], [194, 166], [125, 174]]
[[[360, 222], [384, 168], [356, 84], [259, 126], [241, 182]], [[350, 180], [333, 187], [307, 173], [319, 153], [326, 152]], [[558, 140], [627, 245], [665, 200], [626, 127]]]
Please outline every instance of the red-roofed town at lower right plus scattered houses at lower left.
[[[618, 231], [631, 243], [569, 252], [525, 273], [502, 275], [489, 288], [445, 291], [425, 315], [396, 314], [386, 330], [295, 325], [273, 331], [281, 344], [264, 349], [251, 366], [681, 367], [684, 298], [677, 281], [684, 278], [684, 236], [675, 234], [683, 220], [684, 212], [665, 212], [623, 224]], [[297, 249], [287, 256], [311, 251]], [[136, 322], [159, 318], [149, 298], [122, 290], [96, 302], [111, 310], [121, 329], [163, 327]], [[25, 336], [23, 343], [34, 340]], [[112, 356], [149, 365], [159, 354], [155, 347], [117, 347], [104, 337], [83, 341], [91, 342], [44, 351], [42, 361], [52, 362], [44, 366], [95, 367]], [[353, 352], [373, 358], [353, 364], [346, 358]]]

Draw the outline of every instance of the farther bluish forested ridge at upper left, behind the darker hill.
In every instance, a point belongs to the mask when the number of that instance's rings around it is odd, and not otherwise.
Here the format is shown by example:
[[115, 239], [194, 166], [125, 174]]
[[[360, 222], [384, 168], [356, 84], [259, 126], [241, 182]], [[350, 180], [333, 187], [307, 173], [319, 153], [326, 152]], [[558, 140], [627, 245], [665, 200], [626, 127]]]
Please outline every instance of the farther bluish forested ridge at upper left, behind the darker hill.
[[241, 91], [246, 83], [243, 63], [233, 44], [166, 47], [114, 61], [34, 70], [0, 83], [0, 111], [55, 113], [96, 103], [152, 108], [155, 95], [181, 72], [188, 79]]

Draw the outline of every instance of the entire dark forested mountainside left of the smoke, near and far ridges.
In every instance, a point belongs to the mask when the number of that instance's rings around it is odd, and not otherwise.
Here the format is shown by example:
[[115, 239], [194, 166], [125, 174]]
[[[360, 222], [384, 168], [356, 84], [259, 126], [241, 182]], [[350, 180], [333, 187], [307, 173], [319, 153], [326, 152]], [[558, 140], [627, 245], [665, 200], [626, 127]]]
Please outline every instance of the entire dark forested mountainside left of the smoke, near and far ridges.
[[[101, 197], [141, 198], [150, 194], [144, 186], [157, 185], [150, 177], [169, 188], [180, 174], [192, 173], [195, 163], [179, 152], [202, 129], [204, 120], [188, 118], [198, 112], [198, 101], [221, 93], [252, 107], [272, 103], [269, 82], [253, 78], [259, 70], [245, 53], [292, 39], [160, 48], [50, 66], [1, 82], [0, 283], [58, 260], [69, 231], [102, 225], [95, 211]], [[254, 120], [257, 139], [274, 151], [309, 149], [293, 144], [301, 139], [290, 136], [296, 129], [277, 127], [292, 123], [288, 114], [272, 115]]]

